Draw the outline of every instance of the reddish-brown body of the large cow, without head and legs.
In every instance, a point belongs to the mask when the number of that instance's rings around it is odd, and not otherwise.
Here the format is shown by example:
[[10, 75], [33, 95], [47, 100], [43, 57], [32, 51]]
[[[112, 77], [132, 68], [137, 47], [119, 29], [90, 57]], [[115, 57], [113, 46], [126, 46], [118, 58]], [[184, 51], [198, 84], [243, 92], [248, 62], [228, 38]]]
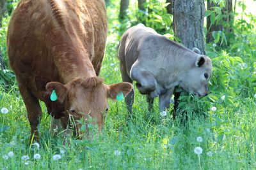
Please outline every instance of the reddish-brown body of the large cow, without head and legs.
[[8, 27], [10, 66], [19, 83], [42, 99], [46, 83], [67, 83], [63, 77], [81, 63], [99, 71], [106, 34], [103, 0], [22, 0]]

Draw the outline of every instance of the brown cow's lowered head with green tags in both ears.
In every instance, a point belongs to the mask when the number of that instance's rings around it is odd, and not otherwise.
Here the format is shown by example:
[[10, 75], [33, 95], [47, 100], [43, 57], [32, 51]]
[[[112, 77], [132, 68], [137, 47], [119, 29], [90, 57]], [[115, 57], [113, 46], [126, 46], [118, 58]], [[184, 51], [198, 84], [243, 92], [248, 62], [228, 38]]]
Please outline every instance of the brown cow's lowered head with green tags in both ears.
[[95, 76], [78, 78], [65, 85], [60, 82], [49, 82], [46, 90], [55, 90], [58, 97], [56, 102], [64, 104], [65, 114], [71, 115], [74, 120], [84, 118], [85, 123], [88, 117], [92, 117], [100, 129], [109, 109], [108, 98], [115, 100], [120, 92], [124, 97], [127, 96], [132, 90], [132, 84], [124, 82], [105, 85], [101, 78]]

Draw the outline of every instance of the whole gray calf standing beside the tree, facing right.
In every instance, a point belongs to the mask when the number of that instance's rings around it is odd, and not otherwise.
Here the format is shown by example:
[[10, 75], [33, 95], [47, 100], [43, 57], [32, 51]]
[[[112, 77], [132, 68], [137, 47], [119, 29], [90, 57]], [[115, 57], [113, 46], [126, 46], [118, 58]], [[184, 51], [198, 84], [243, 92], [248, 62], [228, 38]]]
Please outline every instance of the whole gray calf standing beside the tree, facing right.
[[[120, 42], [122, 80], [136, 81], [140, 93], [147, 94], [149, 110], [157, 96], [159, 110], [169, 108], [170, 97], [177, 85], [196, 96], [206, 96], [212, 74], [211, 59], [200, 55], [197, 48], [193, 51], [138, 24], [128, 29]], [[132, 113], [134, 90], [125, 102]]]

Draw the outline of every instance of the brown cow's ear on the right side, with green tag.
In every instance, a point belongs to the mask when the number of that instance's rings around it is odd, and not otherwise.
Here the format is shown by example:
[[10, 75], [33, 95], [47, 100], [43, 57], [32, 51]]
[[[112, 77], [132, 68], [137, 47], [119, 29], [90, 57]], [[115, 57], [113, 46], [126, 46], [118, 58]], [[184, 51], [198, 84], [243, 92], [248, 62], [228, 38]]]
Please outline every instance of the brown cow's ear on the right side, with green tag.
[[127, 82], [109, 85], [108, 97], [113, 100], [116, 100], [116, 97], [118, 97], [118, 95], [120, 96], [121, 94], [121, 97], [119, 98], [122, 99], [122, 96], [123, 97], [127, 96], [129, 92], [131, 92], [131, 90], [132, 90], [132, 84]]

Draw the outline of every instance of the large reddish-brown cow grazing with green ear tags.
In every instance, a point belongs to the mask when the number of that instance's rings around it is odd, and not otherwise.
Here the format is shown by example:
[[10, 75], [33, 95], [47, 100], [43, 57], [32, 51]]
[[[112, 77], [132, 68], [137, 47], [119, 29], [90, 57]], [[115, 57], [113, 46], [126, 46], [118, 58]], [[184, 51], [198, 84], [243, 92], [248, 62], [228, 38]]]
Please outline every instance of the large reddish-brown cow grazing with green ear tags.
[[[104, 85], [98, 77], [107, 36], [104, 0], [21, 0], [8, 27], [10, 66], [38, 139], [38, 99], [67, 128], [70, 116], [102, 127], [108, 97], [126, 96], [131, 83]], [[46, 87], [46, 88], [45, 88]], [[57, 101], [50, 96], [55, 90]], [[79, 125], [78, 125], [79, 127]], [[76, 131], [77, 132], [77, 131]]]

